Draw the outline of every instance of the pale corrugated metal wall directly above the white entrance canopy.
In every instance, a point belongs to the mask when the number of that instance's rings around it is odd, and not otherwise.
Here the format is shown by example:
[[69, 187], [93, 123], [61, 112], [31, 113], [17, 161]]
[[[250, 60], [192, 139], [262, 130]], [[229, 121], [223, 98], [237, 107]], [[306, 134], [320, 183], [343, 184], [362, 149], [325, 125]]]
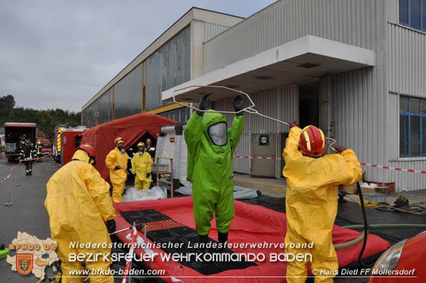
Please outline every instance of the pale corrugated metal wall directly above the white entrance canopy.
[[377, 49], [383, 40], [384, 1], [277, 1], [206, 42], [204, 73], [308, 34]]

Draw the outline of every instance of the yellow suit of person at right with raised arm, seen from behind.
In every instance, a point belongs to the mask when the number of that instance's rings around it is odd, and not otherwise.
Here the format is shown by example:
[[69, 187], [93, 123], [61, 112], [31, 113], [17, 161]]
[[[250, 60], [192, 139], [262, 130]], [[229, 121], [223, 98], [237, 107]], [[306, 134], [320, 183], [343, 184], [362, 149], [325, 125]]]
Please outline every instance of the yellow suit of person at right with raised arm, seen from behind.
[[[355, 152], [348, 149], [341, 154], [306, 157], [298, 150], [300, 133], [291, 128], [282, 152], [287, 178], [285, 243], [313, 242], [313, 249], [285, 249], [286, 253], [311, 253], [312, 269], [317, 269], [315, 282], [333, 282], [339, 269], [333, 247], [331, 229], [337, 214], [338, 186], [351, 185], [361, 179], [361, 166]], [[321, 273], [321, 271], [323, 273]], [[306, 262], [288, 262], [287, 282], [305, 282]], [[323, 277], [320, 277], [323, 274]], [[330, 277], [324, 277], [330, 275]]]

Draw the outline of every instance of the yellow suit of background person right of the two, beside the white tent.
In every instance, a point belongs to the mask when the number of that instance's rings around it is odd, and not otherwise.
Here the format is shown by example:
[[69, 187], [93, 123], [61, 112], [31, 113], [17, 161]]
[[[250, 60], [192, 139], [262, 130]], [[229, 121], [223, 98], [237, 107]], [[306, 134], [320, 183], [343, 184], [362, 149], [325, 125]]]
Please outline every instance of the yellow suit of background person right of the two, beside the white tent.
[[149, 189], [151, 183], [151, 176], [146, 178], [146, 174], [151, 172], [153, 166], [153, 159], [148, 152], [142, 155], [136, 152], [132, 158], [132, 173], [135, 176], [135, 187], [138, 190]]

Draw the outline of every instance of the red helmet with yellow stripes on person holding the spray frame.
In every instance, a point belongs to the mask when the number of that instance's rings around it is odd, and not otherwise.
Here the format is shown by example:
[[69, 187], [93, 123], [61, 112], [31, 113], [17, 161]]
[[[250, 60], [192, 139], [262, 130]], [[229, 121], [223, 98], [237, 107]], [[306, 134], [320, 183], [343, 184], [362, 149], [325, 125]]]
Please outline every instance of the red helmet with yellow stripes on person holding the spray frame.
[[299, 146], [304, 155], [319, 157], [326, 150], [326, 137], [320, 128], [309, 125], [300, 134]]

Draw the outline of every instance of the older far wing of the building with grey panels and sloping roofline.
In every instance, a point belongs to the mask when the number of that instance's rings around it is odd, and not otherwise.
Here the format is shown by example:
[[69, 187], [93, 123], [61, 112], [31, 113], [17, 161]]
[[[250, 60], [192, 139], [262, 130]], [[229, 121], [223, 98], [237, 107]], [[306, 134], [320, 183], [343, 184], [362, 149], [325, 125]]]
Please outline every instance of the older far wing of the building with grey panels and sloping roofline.
[[82, 125], [138, 113], [188, 120], [188, 108], [162, 101], [161, 92], [201, 76], [203, 43], [242, 20], [191, 8], [82, 107]]

